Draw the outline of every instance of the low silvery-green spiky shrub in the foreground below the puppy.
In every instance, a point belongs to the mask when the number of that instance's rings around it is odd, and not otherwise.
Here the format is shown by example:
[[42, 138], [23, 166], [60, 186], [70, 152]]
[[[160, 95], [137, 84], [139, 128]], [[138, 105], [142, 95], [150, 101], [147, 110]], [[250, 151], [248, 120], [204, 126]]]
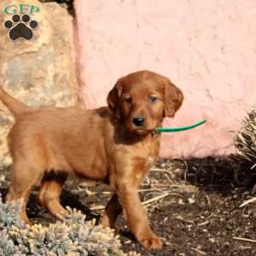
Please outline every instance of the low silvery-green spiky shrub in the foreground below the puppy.
[[63, 223], [28, 226], [20, 221], [20, 202], [3, 204], [0, 196], [0, 255], [45, 256], [136, 256], [123, 253], [113, 230], [102, 229], [94, 221], [68, 208]]

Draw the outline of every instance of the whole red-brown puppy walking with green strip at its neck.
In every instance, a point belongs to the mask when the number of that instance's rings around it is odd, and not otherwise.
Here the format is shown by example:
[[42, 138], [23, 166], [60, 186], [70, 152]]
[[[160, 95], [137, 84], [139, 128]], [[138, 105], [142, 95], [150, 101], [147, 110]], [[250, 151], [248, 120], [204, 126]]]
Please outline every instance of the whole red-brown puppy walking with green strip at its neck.
[[108, 183], [114, 194], [100, 223], [114, 228], [125, 212], [131, 232], [144, 247], [161, 248], [148, 224], [137, 187], [158, 157], [159, 127], [173, 117], [183, 93], [169, 79], [149, 71], [131, 73], [117, 81], [108, 94], [108, 108], [32, 108], [0, 88], [0, 99], [15, 116], [9, 132], [13, 158], [7, 201], [26, 202], [41, 183], [40, 203], [56, 218], [67, 211], [59, 197], [69, 174]]

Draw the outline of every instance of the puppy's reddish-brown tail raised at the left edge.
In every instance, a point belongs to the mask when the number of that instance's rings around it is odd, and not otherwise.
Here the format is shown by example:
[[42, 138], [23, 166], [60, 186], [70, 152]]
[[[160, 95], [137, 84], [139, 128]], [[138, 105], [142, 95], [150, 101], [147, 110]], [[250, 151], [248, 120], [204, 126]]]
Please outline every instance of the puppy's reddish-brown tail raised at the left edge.
[[26, 106], [24, 103], [16, 100], [13, 96], [10, 96], [3, 87], [0, 85], [0, 100], [3, 104], [9, 108], [10, 112], [13, 115], [19, 116], [21, 113], [27, 112], [30, 110], [30, 107]]

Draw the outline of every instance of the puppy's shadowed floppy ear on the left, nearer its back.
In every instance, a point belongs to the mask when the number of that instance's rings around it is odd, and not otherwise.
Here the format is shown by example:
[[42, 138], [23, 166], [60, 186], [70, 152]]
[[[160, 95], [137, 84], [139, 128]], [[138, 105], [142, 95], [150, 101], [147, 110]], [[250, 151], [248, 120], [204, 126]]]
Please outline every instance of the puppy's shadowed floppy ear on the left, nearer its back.
[[119, 96], [121, 96], [122, 87], [120, 79], [113, 85], [113, 89], [108, 93], [108, 108], [113, 112], [116, 118], [119, 119]]

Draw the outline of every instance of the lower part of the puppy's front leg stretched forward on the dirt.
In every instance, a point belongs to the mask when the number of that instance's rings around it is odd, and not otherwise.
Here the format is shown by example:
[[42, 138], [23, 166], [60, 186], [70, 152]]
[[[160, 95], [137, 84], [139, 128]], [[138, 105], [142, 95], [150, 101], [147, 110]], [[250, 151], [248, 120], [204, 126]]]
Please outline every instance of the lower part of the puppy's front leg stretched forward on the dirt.
[[148, 224], [146, 212], [140, 201], [137, 187], [131, 183], [120, 182], [117, 184], [119, 201], [124, 208], [131, 232], [144, 247], [160, 249], [162, 243], [155, 236]]

